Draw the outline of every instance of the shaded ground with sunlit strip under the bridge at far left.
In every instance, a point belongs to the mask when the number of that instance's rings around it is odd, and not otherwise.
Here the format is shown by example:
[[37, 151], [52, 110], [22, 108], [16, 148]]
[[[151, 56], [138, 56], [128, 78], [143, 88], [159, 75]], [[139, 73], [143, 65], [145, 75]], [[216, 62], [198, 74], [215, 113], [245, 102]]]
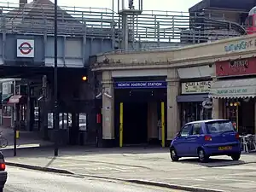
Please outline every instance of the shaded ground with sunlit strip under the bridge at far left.
[[[9, 150], [14, 148], [14, 130], [12, 128], [0, 127], [0, 131], [3, 131], [3, 137], [8, 140], [8, 146], [6, 148], [0, 148], [1, 150]], [[44, 141], [39, 137], [37, 131], [19, 131], [20, 137], [17, 139], [17, 148], [38, 148], [45, 146], [52, 146], [53, 143]]]

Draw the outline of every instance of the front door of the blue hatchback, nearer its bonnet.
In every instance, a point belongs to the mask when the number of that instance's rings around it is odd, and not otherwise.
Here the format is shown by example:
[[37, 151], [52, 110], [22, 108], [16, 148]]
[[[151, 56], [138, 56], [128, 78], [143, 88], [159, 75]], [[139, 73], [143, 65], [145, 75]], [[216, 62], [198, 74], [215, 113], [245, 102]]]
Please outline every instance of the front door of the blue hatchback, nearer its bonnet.
[[191, 131], [191, 125], [184, 125], [182, 130], [179, 132], [176, 142], [176, 152], [178, 156], [187, 156], [189, 155], [189, 144], [188, 137]]

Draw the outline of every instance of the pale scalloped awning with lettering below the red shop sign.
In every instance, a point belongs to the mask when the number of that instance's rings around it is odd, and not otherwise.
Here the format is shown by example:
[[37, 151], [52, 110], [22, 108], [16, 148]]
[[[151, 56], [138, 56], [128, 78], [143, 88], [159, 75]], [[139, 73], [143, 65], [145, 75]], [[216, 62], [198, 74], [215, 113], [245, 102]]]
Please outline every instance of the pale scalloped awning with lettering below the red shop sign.
[[256, 96], [256, 79], [220, 80], [212, 84], [210, 98], [247, 98]]

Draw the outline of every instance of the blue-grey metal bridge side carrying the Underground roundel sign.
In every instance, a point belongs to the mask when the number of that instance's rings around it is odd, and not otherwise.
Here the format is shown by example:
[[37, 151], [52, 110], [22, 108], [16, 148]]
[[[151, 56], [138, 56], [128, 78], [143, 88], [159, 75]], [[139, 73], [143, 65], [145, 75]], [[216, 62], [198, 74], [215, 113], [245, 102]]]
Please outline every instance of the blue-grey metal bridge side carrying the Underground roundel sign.
[[[112, 49], [111, 39], [58, 37], [58, 67], [88, 67], [90, 55]], [[54, 37], [0, 32], [0, 65], [54, 66]]]

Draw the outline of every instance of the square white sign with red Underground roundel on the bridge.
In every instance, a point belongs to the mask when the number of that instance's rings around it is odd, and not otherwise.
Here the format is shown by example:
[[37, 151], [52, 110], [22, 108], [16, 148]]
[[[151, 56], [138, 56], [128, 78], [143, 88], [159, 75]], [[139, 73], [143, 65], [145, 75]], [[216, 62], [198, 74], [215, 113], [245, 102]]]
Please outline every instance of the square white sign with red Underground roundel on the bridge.
[[17, 57], [34, 57], [34, 40], [17, 39]]

